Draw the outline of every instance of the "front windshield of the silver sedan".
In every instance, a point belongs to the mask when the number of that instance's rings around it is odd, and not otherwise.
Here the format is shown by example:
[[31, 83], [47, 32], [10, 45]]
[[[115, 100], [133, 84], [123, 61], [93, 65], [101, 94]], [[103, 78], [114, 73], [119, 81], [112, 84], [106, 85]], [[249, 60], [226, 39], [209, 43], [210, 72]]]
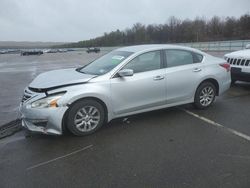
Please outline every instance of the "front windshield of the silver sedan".
[[78, 69], [78, 71], [85, 74], [102, 75], [111, 71], [131, 54], [132, 52], [112, 51], [83, 68]]

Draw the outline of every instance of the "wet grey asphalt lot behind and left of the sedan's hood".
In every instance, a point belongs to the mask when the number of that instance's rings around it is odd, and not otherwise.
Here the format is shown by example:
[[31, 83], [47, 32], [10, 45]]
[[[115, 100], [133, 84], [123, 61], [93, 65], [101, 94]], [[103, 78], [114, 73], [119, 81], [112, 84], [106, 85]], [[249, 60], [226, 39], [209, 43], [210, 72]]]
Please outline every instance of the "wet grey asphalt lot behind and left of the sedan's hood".
[[51, 53], [40, 56], [0, 55], [0, 127], [18, 118], [18, 106], [24, 88], [40, 73], [83, 66], [107, 53], [85, 51]]

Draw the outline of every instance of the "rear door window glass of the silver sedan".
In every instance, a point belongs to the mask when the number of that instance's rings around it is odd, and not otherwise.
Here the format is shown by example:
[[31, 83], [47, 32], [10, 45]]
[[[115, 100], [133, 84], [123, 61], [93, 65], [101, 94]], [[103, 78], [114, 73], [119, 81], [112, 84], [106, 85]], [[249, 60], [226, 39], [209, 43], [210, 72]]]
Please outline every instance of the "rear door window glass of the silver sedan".
[[193, 54], [184, 50], [166, 50], [166, 60], [168, 67], [188, 65], [194, 63]]

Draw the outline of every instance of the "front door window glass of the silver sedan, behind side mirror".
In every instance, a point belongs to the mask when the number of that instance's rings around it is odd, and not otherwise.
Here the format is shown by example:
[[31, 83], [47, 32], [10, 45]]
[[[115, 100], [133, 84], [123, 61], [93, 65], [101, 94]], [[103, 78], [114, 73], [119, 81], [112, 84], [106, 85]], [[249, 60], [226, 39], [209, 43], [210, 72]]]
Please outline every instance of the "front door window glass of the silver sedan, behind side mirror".
[[161, 68], [160, 51], [148, 52], [131, 60], [123, 69], [132, 69], [134, 73], [151, 71]]

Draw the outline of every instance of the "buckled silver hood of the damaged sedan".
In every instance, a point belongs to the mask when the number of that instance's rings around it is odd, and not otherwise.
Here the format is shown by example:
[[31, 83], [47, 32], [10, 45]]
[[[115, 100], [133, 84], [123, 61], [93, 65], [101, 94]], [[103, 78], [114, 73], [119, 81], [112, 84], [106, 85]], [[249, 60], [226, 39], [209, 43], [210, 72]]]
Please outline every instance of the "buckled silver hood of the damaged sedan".
[[96, 75], [77, 72], [75, 68], [61, 69], [42, 73], [38, 75], [29, 85], [30, 88], [38, 90], [49, 90], [74, 84], [88, 82]]

